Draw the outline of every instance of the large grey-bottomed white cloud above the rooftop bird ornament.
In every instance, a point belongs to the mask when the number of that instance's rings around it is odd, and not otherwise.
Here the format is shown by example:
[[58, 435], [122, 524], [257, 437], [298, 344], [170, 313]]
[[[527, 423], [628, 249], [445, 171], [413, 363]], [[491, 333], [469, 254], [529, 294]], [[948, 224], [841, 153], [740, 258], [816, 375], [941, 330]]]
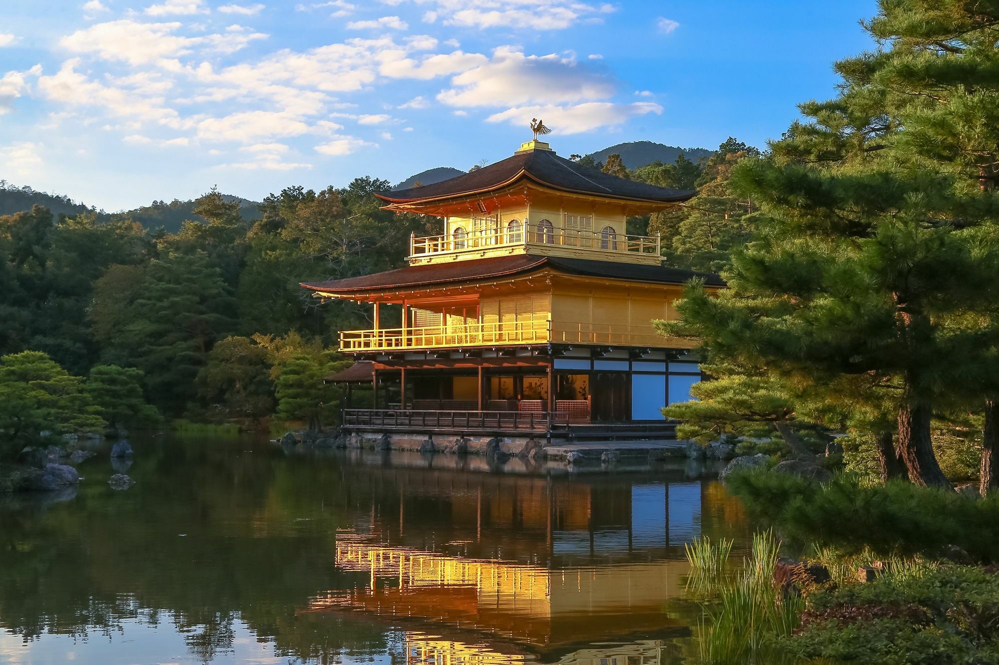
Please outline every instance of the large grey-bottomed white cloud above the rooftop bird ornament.
[[491, 62], [459, 74], [438, 95], [450, 106], [564, 104], [610, 97], [613, 85], [604, 77], [555, 54], [525, 56], [497, 49]]

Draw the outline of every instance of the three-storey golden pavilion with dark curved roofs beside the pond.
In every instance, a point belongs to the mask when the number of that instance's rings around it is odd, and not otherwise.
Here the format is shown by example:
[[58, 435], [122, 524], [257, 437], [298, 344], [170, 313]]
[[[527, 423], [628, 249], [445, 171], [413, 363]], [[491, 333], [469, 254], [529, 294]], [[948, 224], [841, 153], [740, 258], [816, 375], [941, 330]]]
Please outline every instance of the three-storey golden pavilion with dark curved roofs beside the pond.
[[[572, 429], [667, 433], [660, 408], [700, 380], [688, 340], [655, 332], [693, 278], [663, 267], [659, 239], [630, 217], [676, 207], [693, 191], [588, 168], [529, 141], [468, 174], [378, 195], [384, 208], [444, 220], [413, 237], [408, 266], [303, 286], [373, 308], [371, 330], [344, 331], [359, 363], [331, 380], [374, 387], [345, 426], [416, 431]], [[383, 328], [387, 308], [401, 325]]]

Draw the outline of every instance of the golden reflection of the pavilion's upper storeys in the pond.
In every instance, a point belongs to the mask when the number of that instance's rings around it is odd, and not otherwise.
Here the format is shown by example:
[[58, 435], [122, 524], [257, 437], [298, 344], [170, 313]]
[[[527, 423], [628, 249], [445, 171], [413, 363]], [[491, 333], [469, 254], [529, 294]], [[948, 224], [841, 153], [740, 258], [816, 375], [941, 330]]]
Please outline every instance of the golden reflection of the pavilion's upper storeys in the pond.
[[[586, 663], [591, 657], [605, 663], [658, 662], [658, 647], [651, 643], [590, 643], [627, 634], [675, 636], [683, 631], [680, 623], [663, 612], [665, 601], [682, 588], [687, 569], [683, 561], [551, 570], [347, 539], [337, 546], [337, 563], [367, 573], [369, 583], [320, 596], [311, 610], [361, 611], [404, 626], [408, 621], [431, 622], [473, 635], [486, 634], [494, 638], [487, 651], [500, 650], [505, 662], [536, 662], [524, 655], [532, 651], [572, 653], [574, 658], [561, 661], [571, 663]], [[503, 662], [491, 660], [493, 655], [485, 653], [473, 637], [464, 637], [416, 640], [412, 648], [421, 655], [412, 662]], [[527, 651], [518, 649], [517, 643]], [[431, 651], [451, 657], [430, 659]], [[583, 652], [600, 655], [584, 656]], [[620, 659], [606, 660], [609, 652], [617, 652]], [[636, 656], [641, 659], [635, 660]]]

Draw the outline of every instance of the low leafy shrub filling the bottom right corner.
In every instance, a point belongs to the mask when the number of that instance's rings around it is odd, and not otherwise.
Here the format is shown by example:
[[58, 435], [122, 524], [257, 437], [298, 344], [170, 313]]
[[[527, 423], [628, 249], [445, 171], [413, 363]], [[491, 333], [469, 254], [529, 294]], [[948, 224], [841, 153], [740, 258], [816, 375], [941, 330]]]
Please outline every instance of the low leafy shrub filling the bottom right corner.
[[782, 645], [871, 665], [999, 662], [999, 576], [971, 566], [907, 572], [809, 595], [799, 634]]

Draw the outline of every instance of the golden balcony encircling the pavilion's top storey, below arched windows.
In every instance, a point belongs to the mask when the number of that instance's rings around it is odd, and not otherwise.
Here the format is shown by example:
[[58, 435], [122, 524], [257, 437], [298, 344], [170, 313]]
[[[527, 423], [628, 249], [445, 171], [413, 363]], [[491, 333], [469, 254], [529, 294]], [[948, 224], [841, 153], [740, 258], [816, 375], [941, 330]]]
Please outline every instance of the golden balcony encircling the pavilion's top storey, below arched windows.
[[437, 258], [478, 259], [504, 254], [544, 254], [658, 265], [659, 238], [629, 236], [610, 227], [601, 231], [559, 228], [549, 222], [524, 225], [514, 221], [504, 228], [459, 230], [444, 236], [410, 238], [410, 263]]

